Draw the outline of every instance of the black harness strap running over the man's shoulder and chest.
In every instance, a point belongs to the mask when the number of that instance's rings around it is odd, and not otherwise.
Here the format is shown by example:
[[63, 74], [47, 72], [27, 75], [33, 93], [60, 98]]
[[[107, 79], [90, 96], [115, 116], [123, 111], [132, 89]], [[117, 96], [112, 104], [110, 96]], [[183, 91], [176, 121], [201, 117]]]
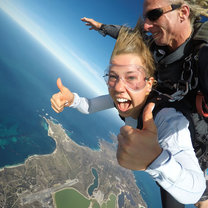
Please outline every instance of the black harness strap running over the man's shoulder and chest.
[[[192, 38], [187, 40], [181, 47], [178, 48], [178, 51], [181, 58], [184, 56], [182, 64], [181, 79], [174, 85], [176, 86], [176, 92], [171, 96], [172, 100], [183, 99], [189, 91], [198, 90], [198, 56], [200, 49], [208, 44], [208, 21], [204, 23], [195, 23], [194, 33]], [[179, 50], [181, 48], [181, 50]], [[173, 53], [174, 54], [174, 53]], [[173, 54], [170, 54], [171, 57], [167, 56], [164, 60], [171, 63], [175, 61], [172, 57]], [[165, 82], [164, 82], [165, 83]]]

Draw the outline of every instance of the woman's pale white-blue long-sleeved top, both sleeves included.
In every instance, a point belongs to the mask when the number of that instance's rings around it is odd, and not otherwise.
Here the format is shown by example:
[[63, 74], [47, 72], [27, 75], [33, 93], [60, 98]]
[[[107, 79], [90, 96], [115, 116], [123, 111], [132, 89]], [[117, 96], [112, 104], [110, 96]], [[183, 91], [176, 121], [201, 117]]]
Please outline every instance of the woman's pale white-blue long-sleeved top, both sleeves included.
[[[74, 101], [70, 107], [88, 114], [112, 108], [114, 103], [110, 95], [87, 99], [74, 93]], [[138, 120], [125, 118], [125, 124], [141, 129], [141, 118], [142, 115]], [[174, 108], [162, 108], [155, 112], [154, 121], [158, 131], [158, 142], [163, 151], [145, 172], [161, 187], [162, 195], [165, 194], [166, 198], [171, 199], [172, 203], [168, 208], [176, 208], [179, 202], [196, 203], [206, 184], [193, 150], [189, 121]]]

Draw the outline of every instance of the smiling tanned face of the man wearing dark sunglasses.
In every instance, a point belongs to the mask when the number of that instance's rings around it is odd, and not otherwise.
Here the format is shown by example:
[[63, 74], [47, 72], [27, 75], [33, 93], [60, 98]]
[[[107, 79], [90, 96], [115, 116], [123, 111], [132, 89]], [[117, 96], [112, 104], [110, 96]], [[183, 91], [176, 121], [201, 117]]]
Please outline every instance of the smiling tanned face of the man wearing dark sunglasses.
[[178, 28], [178, 10], [168, 10], [170, 5], [171, 3], [168, 0], [144, 0], [144, 17], [147, 12], [153, 9], [164, 8], [167, 10], [157, 20], [151, 21], [145, 18], [144, 22], [144, 29], [152, 34], [155, 43], [159, 46], [173, 47], [177, 41], [177, 36], [181, 33]]

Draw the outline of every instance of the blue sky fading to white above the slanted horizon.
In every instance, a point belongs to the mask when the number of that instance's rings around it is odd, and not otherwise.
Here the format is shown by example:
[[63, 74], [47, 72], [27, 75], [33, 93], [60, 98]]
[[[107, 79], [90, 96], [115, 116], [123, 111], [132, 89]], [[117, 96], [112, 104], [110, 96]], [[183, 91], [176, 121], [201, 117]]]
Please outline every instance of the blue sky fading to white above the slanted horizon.
[[[0, 8], [96, 94], [115, 40], [90, 31], [82, 17], [133, 27], [142, 12], [138, 0], [2, 0]], [[54, 69], [56, 70], [56, 69]]]

